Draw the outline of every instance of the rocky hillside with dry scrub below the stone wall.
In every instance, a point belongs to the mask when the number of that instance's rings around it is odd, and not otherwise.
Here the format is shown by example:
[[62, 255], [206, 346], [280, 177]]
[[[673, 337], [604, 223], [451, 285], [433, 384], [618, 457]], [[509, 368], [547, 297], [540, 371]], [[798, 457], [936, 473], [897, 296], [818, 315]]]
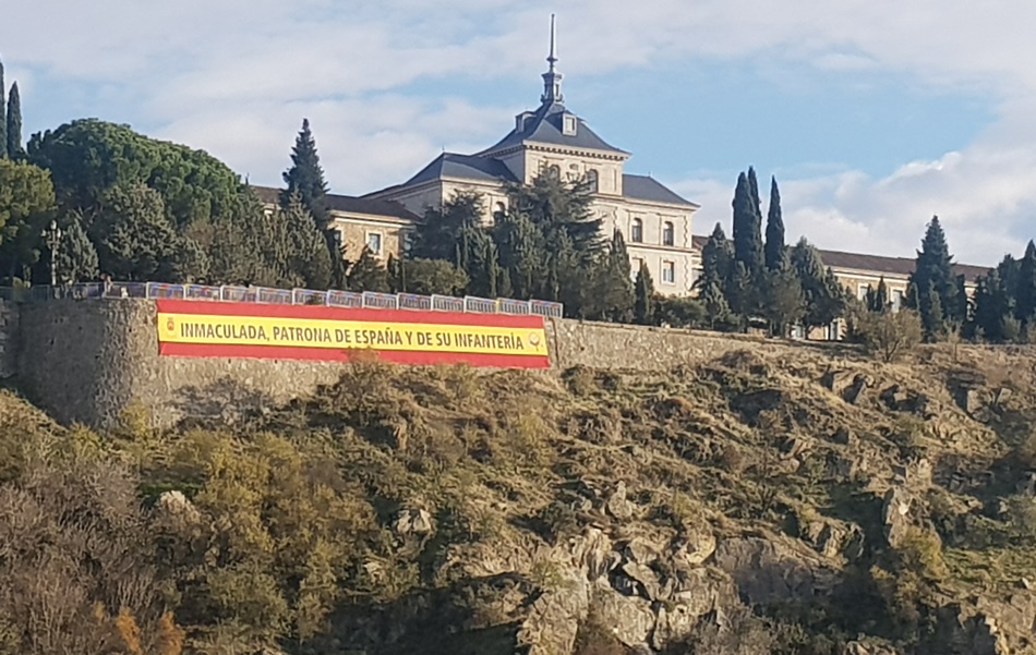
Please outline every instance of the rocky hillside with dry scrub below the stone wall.
[[0, 654], [1036, 652], [1031, 351], [357, 362], [222, 410], [0, 396]]

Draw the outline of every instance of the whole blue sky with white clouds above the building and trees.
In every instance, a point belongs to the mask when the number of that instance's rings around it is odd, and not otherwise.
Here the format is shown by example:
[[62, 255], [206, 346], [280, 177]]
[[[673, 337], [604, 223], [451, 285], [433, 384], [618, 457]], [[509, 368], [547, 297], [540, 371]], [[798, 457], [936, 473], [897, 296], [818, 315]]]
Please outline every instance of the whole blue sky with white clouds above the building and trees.
[[961, 262], [1036, 236], [1024, 0], [20, 4], [0, 57], [26, 137], [98, 117], [277, 184], [308, 117], [333, 190], [361, 194], [534, 107], [556, 12], [568, 107], [699, 203], [698, 233], [754, 165], [822, 247], [911, 256], [933, 214]]

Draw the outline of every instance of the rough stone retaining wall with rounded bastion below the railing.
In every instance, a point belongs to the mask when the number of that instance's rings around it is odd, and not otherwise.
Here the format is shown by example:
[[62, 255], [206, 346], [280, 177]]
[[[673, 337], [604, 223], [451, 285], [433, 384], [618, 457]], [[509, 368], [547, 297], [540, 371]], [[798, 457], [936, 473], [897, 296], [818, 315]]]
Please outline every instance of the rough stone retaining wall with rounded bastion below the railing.
[[[110, 424], [133, 402], [170, 425], [275, 405], [338, 379], [339, 362], [158, 354], [152, 300], [0, 301], [0, 373], [63, 423]], [[546, 317], [551, 363], [667, 369], [744, 348], [793, 345], [751, 337]]]

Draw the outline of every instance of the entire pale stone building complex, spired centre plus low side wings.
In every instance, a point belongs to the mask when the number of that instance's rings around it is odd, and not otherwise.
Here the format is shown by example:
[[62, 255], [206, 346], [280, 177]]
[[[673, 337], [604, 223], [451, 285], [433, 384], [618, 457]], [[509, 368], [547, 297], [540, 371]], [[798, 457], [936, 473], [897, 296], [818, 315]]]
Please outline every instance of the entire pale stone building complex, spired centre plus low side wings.
[[[442, 206], [460, 191], [482, 195], [484, 220], [491, 225], [496, 213], [507, 209], [506, 184], [529, 184], [547, 173], [588, 181], [593, 189], [591, 210], [602, 220], [603, 236], [623, 232], [635, 274], [645, 263], [660, 293], [691, 295], [701, 272], [701, 247], [708, 240], [692, 232], [699, 206], [649, 175], [627, 172], [630, 153], [604, 141], [566, 107], [553, 24], [546, 61], [539, 108], [518, 113], [510, 131], [495, 144], [473, 154], [443, 153], [407, 181], [363, 196], [325, 196], [346, 257], [354, 259], [363, 246], [381, 259], [400, 256], [425, 209]], [[256, 191], [265, 202], [276, 204], [277, 190]], [[914, 269], [914, 260], [905, 257], [838, 251], [820, 251], [820, 255], [857, 298], [883, 278], [895, 306], [902, 303]], [[972, 291], [975, 279], [987, 269], [956, 265], [956, 271]]]

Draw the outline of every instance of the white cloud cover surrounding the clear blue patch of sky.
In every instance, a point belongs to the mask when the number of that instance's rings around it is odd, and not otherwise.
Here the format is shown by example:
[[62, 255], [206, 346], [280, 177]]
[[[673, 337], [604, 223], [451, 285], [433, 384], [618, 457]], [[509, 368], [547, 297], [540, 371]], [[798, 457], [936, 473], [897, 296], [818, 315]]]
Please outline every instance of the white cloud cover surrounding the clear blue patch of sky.
[[[991, 263], [1019, 252], [1034, 231], [1029, 26], [1036, 3], [1029, 0], [13, 4], [4, 10], [0, 45], [23, 96], [44, 77], [89, 84], [100, 89], [95, 116], [132, 117], [266, 183], [279, 181], [308, 116], [328, 178], [346, 193], [399, 182], [443, 147], [474, 150], [506, 132], [521, 107], [454, 97], [454, 81], [534, 81], [551, 11], [558, 13], [563, 70], [571, 75], [687, 58], [752, 61], [776, 77], [788, 64], [847, 80], [859, 72], [905, 74], [918, 85], [986, 94], [996, 123], [966, 147], [904, 161], [876, 178], [852, 167], [816, 171], [809, 162], [786, 162], [781, 183], [790, 235], [909, 255], [924, 223], [939, 214], [959, 259]], [[409, 88], [413, 83], [420, 93]], [[116, 109], [104, 107], [106, 99]], [[586, 110], [592, 121], [592, 107]], [[708, 153], [699, 157], [709, 165]], [[702, 205], [696, 231], [715, 220], [728, 225], [734, 178], [727, 177], [675, 184]]]

